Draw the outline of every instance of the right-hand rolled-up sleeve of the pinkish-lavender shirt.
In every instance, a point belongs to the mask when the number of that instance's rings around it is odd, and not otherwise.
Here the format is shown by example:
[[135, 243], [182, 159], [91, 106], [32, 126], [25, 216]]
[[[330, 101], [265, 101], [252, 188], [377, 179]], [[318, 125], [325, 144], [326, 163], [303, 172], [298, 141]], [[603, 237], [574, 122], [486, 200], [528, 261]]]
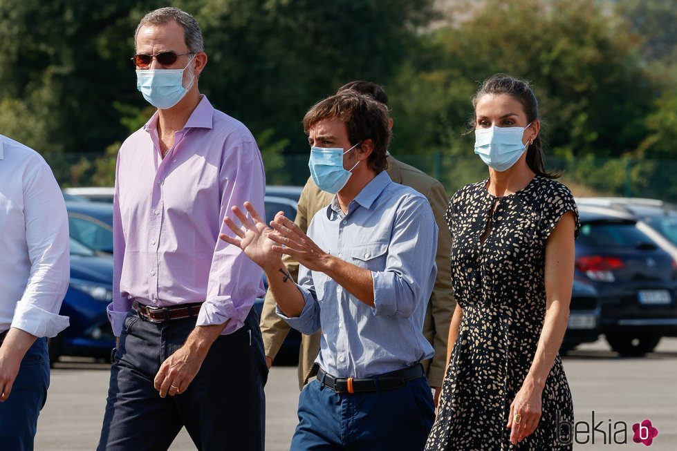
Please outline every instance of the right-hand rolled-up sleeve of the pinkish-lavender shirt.
[[[223, 223], [231, 215], [231, 207], [243, 209], [245, 201], [265, 215], [263, 197], [266, 193], [266, 175], [263, 172], [261, 153], [256, 143], [241, 142], [226, 153], [219, 171], [221, 215], [219, 231], [234, 236]], [[202, 305], [196, 325], [228, 324], [223, 334], [231, 334], [242, 327], [254, 300], [263, 296], [263, 271], [237, 246], [216, 240], [210, 268], [207, 299]]]

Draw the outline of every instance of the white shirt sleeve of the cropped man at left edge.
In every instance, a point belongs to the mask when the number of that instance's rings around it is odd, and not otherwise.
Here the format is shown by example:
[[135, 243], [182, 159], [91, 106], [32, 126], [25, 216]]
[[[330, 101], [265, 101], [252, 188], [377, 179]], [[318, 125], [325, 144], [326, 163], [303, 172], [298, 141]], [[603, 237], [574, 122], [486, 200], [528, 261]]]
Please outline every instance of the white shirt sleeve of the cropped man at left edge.
[[24, 218], [30, 276], [11, 327], [53, 337], [68, 327], [59, 309], [70, 278], [70, 241], [64, 197], [46, 163], [24, 179]]

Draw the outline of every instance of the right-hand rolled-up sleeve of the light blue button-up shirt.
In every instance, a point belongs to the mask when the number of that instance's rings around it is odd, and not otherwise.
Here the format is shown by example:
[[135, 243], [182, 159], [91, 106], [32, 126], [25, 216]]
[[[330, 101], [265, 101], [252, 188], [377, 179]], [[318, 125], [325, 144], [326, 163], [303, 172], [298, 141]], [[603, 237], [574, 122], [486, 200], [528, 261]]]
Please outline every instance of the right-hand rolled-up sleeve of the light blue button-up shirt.
[[421, 300], [427, 302], [437, 274], [437, 233], [425, 198], [415, 196], [402, 202], [393, 225], [386, 268], [371, 271], [373, 314], [409, 318]]

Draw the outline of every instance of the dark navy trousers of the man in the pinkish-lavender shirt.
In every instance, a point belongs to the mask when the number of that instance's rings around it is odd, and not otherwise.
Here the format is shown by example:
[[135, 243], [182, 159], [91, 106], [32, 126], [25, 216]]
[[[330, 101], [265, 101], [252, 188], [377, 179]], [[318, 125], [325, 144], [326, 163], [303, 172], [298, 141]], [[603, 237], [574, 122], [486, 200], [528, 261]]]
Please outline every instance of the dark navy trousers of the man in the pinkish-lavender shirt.
[[216, 339], [185, 392], [162, 399], [155, 389], [160, 365], [195, 321], [154, 324], [130, 311], [111, 367], [98, 450], [165, 451], [182, 426], [198, 450], [263, 450], [268, 368], [254, 309], [243, 327]]

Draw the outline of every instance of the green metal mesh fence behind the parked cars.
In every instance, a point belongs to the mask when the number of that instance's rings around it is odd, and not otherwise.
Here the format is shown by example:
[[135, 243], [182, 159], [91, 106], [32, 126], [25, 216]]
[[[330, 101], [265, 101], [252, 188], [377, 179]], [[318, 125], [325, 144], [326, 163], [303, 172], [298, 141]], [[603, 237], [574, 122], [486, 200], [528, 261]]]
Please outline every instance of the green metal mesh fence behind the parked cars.
[[[440, 180], [449, 196], [467, 183], [488, 177], [487, 166], [470, 155], [395, 155]], [[112, 186], [115, 156], [95, 153], [44, 155], [57, 181], [66, 186]], [[560, 180], [577, 196], [654, 198], [677, 203], [677, 160], [629, 158], [550, 158], [548, 169], [562, 171]], [[268, 184], [299, 185], [308, 179], [308, 155], [263, 155]]]

